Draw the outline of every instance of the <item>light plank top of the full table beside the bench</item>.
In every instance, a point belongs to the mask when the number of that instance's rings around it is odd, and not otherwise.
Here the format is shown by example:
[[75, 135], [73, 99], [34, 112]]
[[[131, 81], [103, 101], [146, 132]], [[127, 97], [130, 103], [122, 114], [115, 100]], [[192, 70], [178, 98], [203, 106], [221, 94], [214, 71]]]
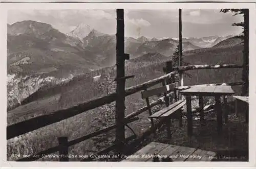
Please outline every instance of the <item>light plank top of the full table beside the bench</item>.
[[184, 95], [202, 94], [202, 95], [232, 95], [234, 91], [231, 86], [191, 86], [188, 89], [180, 91]]

